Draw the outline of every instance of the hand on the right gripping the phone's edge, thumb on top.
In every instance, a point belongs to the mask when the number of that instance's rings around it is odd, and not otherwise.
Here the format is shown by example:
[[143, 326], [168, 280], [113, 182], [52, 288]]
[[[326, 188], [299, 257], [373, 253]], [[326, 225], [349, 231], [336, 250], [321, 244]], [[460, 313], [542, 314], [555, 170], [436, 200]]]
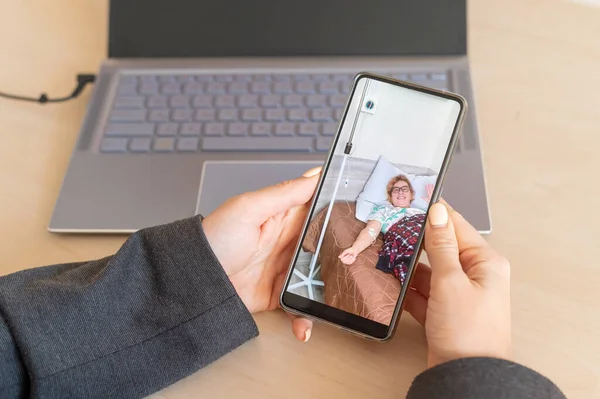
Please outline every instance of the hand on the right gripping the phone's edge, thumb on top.
[[425, 252], [405, 309], [425, 326], [428, 367], [464, 357], [508, 359], [510, 265], [459, 213], [429, 211]]

